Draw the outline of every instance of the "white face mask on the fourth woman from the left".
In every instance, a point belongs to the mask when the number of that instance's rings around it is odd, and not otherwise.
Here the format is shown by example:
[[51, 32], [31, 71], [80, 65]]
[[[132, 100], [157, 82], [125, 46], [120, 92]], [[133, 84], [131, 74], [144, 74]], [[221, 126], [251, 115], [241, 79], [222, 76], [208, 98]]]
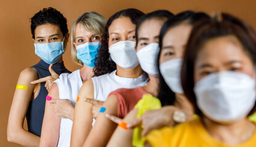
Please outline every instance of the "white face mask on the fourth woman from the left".
[[150, 43], [137, 51], [138, 61], [142, 69], [150, 75], [158, 76], [158, 53], [159, 53], [159, 44]]

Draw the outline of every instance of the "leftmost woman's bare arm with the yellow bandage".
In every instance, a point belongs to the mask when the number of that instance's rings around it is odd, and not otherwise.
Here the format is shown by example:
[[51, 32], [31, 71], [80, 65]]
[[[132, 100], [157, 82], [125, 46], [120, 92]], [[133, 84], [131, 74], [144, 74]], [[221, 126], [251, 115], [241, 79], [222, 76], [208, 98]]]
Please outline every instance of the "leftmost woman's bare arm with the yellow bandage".
[[25, 85], [28, 89], [15, 89], [14, 99], [10, 107], [7, 140], [22, 146], [39, 146], [40, 137], [31, 134], [23, 128], [23, 122], [30, 104], [31, 97], [36, 85], [30, 84], [37, 80], [38, 74], [35, 69], [28, 67], [20, 72], [17, 85]]

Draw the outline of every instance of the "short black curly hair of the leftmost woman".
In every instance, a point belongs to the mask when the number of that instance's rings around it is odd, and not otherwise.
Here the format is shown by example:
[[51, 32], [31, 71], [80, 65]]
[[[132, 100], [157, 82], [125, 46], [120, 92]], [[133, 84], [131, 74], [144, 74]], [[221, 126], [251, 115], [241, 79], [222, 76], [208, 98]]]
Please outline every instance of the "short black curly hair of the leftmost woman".
[[37, 26], [44, 25], [46, 23], [50, 23], [52, 25], [57, 25], [60, 27], [60, 31], [62, 31], [63, 36], [68, 33], [68, 25], [66, 25], [66, 18], [60, 13], [58, 10], [48, 7], [40, 10], [38, 13], [34, 14], [33, 17], [30, 18], [30, 29], [32, 38], [34, 39], [34, 30]]

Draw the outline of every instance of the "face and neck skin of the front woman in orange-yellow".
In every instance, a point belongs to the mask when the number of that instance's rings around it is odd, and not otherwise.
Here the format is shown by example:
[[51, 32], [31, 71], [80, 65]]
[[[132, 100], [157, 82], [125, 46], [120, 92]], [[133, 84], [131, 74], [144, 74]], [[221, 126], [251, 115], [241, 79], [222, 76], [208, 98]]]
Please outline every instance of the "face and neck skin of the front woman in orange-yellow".
[[[207, 41], [198, 53], [194, 67], [197, 83], [209, 74], [234, 71], [254, 78], [254, 64], [235, 36], [218, 37]], [[255, 132], [255, 124], [247, 117], [223, 124], [202, 116], [202, 123], [209, 135], [227, 145], [239, 145]]]

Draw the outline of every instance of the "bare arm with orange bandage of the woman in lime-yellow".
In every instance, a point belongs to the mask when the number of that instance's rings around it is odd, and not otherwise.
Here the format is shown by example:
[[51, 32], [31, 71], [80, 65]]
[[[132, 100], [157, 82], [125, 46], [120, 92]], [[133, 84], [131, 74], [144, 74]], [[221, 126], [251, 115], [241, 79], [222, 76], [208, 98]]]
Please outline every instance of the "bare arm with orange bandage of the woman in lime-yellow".
[[[136, 116], [138, 113], [138, 109], [134, 109], [126, 115], [126, 117], [122, 120], [124, 122], [132, 123], [136, 120]], [[108, 142], [107, 146], [111, 147], [130, 147], [132, 146], [132, 135], [134, 134], [134, 129], [122, 129], [121, 127], [116, 127], [116, 130], [114, 130], [114, 134], [110, 138], [110, 141]]]

